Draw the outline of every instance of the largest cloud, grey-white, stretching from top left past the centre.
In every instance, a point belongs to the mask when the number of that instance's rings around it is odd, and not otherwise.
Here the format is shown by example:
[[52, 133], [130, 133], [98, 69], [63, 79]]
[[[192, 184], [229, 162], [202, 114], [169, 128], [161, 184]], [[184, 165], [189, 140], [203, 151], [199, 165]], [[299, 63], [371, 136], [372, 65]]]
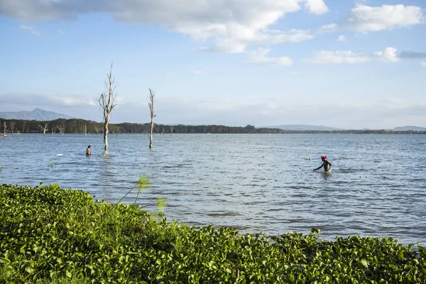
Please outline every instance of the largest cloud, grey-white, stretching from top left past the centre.
[[241, 53], [249, 45], [299, 42], [310, 31], [270, 31], [287, 13], [305, 7], [324, 13], [323, 0], [14, 0], [0, 1], [0, 14], [24, 21], [76, 18], [84, 13], [108, 13], [116, 21], [163, 26], [197, 40], [212, 39], [202, 50]]

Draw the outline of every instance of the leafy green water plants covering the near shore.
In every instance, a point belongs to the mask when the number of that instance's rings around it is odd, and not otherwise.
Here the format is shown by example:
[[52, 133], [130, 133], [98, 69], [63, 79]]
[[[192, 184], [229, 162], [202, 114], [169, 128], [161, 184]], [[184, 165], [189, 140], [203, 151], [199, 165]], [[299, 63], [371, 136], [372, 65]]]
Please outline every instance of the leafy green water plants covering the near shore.
[[58, 185], [0, 196], [0, 283], [426, 282], [425, 249], [393, 239], [195, 229]]

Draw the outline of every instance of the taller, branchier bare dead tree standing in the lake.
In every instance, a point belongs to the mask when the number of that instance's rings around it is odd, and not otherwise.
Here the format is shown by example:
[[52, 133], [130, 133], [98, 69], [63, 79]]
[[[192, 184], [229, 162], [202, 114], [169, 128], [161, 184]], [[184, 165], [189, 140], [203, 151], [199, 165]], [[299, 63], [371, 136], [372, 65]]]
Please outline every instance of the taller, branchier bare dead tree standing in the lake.
[[112, 63], [111, 63], [111, 69], [109, 70], [109, 74], [107, 74], [108, 81], [105, 82], [105, 88], [107, 89], [106, 92], [102, 92], [102, 94], [99, 94], [98, 101], [99, 106], [102, 107], [102, 111], [104, 114], [104, 145], [105, 145], [105, 151], [108, 151], [108, 124], [109, 124], [109, 116], [111, 116], [111, 111], [116, 107], [116, 104], [114, 104], [115, 98], [116, 98], [116, 82], [114, 78], [112, 77]]

